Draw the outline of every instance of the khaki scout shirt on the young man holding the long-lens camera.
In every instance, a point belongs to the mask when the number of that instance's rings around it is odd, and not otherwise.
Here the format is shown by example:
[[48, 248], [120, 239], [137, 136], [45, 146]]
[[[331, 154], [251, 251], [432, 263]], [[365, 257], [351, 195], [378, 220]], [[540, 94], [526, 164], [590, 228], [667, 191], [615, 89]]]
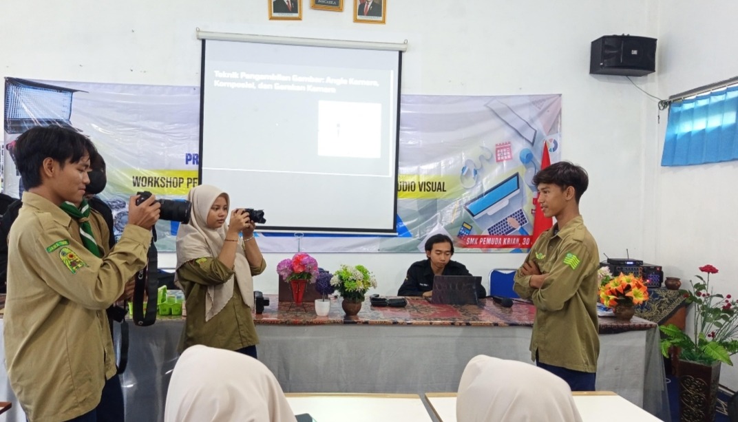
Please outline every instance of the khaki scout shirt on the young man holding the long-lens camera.
[[66, 421], [100, 403], [116, 372], [105, 309], [145, 266], [150, 242], [149, 230], [126, 226], [100, 259], [66, 212], [23, 194], [8, 237], [4, 341], [10, 386], [30, 421]]

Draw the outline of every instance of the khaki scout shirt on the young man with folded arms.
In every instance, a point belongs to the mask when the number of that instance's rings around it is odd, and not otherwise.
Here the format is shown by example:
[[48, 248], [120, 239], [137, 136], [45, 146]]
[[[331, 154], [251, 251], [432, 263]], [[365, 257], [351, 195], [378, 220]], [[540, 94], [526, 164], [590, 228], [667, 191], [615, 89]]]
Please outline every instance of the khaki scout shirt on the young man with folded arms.
[[531, 288], [531, 276], [515, 273], [514, 290], [533, 300], [536, 319], [531, 358], [544, 364], [587, 373], [597, 372], [599, 333], [597, 269], [599, 251], [579, 215], [566, 226], [543, 232], [525, 262], [533, 261], [548, 274], [541, 288]]

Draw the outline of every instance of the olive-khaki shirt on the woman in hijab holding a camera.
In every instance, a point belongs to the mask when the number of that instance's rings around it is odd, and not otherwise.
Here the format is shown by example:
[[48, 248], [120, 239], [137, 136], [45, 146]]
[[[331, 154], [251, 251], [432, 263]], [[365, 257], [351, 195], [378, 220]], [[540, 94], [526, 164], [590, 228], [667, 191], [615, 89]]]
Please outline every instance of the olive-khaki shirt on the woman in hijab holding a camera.
[[[261, 260], [261, 266], [251, 267], [251, 275], [261, 274], [265, 268], [266, 260]], [[225, 308], [205, 322], [207, 286], [225, 283], [232, 275], [233, 270], [214, 257], [201, 257], [179, 267], [177, 279], [184, 288], [187, 306], [187, 322], [179, 341], [179, 353], [193, 345], [226, 350], [258, 345], [251, 308], [244, 303], [238, 283], [233, 283], [233, 297]]]

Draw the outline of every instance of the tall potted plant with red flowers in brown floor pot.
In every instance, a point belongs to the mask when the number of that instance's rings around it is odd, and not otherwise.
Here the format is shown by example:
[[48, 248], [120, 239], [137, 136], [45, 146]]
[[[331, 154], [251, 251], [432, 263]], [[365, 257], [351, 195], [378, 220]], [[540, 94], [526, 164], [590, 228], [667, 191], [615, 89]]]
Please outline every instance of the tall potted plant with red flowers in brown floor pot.
[[[689, 336], [674, 324], [662, 325], [661, 353], [671, 354], [672, 361], [678, 362], [680, 394], [689, 395], [680, 399], [683, 420], [689, 414], [699, 418], [689, 420], [712, 421], [720, 364], [732, 365], [731, 356], [738, 353], [738, 302], [730, 294], [723, 297], [713, 292], [710, 274], [717, 274], [717, 268], [706, 265], [700, 271], [707, 277], [697, 274], [698, 283], [689, 281], [692, 291], [680, 290], [686, 302], [694, 305], [694, 333]], [[700, 384], [706, 391], [694, 394], [694, 386]]]

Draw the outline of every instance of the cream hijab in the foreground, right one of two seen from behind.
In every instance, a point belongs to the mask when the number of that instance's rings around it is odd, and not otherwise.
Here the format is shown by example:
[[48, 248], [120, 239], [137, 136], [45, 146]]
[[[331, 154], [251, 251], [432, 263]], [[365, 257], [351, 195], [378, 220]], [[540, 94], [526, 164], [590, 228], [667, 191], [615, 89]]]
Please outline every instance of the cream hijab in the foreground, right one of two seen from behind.
[[479, 355], [461, 375], [458, 422], [581, 422], [569, 384], [525, 362]]

